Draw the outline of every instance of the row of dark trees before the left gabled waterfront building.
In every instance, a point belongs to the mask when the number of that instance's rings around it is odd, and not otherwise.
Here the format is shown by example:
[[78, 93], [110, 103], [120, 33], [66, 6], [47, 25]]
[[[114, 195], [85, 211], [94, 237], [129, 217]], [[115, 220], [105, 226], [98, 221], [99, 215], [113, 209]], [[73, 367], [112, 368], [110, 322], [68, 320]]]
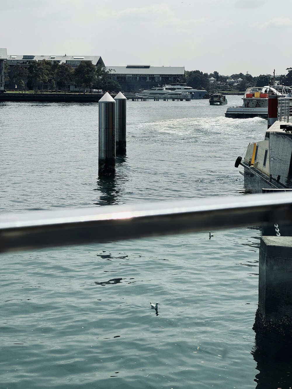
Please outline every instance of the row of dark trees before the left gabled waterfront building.
[[[5, 81], [9, 81], [9, 67], [7, 65], [4, 71], [6, 73]], [[104, 66], [95, 67], [91, 61], [81, 61], [76, 68], [73, 68], [67, 63], [59, 64], [57, 61], [52, 63], [48, 60], [42, 60], [32, 61], [27, 68], [20, 64], [14, 65], [12, 79], [18, 83], [21, 89], [25, 88], [25, 80], [27, 80], [28, 87], [34, 88], [35, 91], [38, 84], [42, 85], [42, 90], [44, 85], [49, 90], [49, 87], [57, 89], [57, 84], [61, 83], [65, 93], [69, 85], [75, 85], [82, 89], [83, 93], [85, 93], [86, 88], [118, 92], [121, 90], [120, 84], [109, 77], [113, 71], [113, 69], [107, 69]]]

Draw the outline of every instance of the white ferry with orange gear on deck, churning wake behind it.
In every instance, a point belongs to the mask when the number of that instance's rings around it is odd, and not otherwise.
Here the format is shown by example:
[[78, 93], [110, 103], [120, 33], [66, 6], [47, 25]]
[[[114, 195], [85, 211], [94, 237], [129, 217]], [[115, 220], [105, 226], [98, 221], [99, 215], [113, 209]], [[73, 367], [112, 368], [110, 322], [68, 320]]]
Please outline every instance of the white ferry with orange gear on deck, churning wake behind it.
[[292, 92], [287, 86], [263, 86], [247, 88], [243, 96], [243, 105], [228, 107], [225, 117], [234, 119], [246, 117], [262, 117], [267, 119], [268, 116], [268, 99], [269, 95], [286, 96]]

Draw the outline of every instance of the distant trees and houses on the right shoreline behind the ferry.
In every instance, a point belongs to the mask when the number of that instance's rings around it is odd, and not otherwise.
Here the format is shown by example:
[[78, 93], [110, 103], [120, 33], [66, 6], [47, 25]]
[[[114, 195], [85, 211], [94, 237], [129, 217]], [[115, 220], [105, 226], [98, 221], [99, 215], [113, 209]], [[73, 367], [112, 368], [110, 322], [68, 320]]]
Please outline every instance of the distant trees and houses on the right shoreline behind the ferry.
[[[292, 68], [287, 68], [287, 75], [278, 75], [275, 77], [275, 81], [280, 81], [282, 85], [290, 86], [292, 85]], [[237, 80], [242, 79], [240, 82], [240, 90], [245, 91], [246, 88], [251, 86], [265, 86], [269, 85], [269, 82], [273, 79], [271, 74], [260, 74], [259, 76], [253, 77], [251, 74], [246, 72], [246, 74], [232, 74], [230, 76], [221, 75], [218, 72], [213, 73], [203, 73], [200, 70], [192, 70], [190, 72], [185, 72], [185, 79], [188, 86], [191, 86], [195, 89], [206, 89], [207, 91], [212, 88], [209, 82], [209, 78], [215, 78], [217, 82], [227, 83], [227, 79]]]

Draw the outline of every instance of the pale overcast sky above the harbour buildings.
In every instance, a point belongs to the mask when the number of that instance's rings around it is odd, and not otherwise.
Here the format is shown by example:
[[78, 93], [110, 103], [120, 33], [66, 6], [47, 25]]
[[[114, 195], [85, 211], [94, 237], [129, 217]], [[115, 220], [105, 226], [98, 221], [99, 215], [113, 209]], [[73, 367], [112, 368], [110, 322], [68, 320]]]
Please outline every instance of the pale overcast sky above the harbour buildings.
[[0, 0], [0, 13], [8, 54], [224, 75], [292, 67], [292, 0]]

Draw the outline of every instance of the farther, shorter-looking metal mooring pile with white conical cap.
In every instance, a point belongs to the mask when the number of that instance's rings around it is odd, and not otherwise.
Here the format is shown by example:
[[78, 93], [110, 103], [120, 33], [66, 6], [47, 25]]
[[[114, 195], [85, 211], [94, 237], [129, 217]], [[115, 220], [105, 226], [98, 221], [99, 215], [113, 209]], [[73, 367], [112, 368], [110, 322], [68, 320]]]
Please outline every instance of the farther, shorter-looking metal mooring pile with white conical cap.
[[126, 154], [127, 98], [119, 92], [116, 101], [116, 154]]

